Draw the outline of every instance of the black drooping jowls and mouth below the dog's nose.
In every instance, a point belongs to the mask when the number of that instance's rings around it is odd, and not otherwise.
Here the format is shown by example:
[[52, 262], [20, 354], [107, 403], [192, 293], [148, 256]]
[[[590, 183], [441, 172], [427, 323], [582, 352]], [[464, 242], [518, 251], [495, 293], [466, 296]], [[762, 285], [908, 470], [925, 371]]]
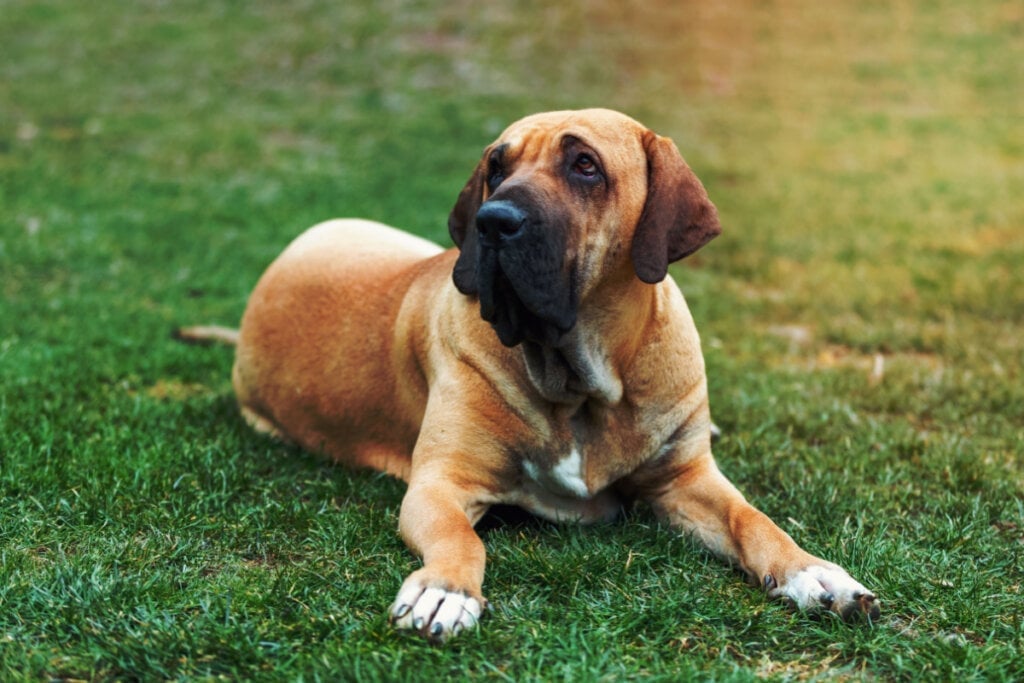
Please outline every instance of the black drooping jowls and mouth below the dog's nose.
[[543, 258], [547, 254], [528, 247], [481, 244], [479, 249], [480, 316], [502, 344], [512, 347], [529, 341], [559, 346], [577, 321], [573, 279], [564, 272], [560, 259], [553, 263], [550, 257]]

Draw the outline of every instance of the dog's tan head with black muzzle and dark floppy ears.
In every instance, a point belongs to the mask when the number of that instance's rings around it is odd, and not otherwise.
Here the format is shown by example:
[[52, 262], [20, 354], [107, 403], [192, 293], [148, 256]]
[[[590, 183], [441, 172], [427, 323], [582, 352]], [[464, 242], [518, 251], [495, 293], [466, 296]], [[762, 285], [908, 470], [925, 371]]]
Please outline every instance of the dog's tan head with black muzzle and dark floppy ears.
[[607, 110], [522, 119], [483, 153], [449, 217], [453, 278], [506, 346], [557, 346], [624, 272], [654, 284], [721, 227], [671, 139]]

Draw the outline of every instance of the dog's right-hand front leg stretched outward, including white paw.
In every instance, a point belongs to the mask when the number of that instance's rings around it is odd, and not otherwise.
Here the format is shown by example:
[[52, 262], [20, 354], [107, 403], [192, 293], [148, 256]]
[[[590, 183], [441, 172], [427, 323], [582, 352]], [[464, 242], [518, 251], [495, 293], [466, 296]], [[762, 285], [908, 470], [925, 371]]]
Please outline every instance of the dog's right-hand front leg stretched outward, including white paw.
[[[870, 591], [839, 565], [805, 552], [748, 503], [718, 470], [710, 451], [692, 458], [673, 455], [675, 460], [670, 456], [638, 473], [641, 494], [659, 516], [737, 563], [773, 598], [792, 600], [802, 609], [830, 609], [846, 620], [862, 613], [878, 617]], [[658, 481], [665, 483], [651, 483]]]

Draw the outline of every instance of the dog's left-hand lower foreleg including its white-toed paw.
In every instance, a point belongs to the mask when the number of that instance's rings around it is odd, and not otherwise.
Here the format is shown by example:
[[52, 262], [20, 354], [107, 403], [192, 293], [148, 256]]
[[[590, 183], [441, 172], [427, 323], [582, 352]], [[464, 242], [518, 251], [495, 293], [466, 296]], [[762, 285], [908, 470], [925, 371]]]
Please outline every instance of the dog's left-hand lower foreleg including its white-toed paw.
[[398, 525], [423, 567], [406, 579], [391, 605], [395, 627], [442, 642], [476, 625], [486, 604], [485, 553], [473, 523], [486, 507], [474, 499], [440, 468], [414, 469]]

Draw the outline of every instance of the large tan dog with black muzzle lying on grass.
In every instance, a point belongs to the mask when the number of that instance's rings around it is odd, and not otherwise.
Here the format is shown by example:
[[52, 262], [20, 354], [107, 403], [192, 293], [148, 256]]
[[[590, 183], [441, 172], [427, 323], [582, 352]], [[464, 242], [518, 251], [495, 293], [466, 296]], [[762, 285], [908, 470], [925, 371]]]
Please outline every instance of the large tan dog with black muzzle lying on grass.
[[399, 525], [423, 567], [396, 627], [444, 640], [476, 624], [488, 506], [586, 522], [635, 499], [773, 597], [878, 615], [715, 465], [697, 332], [666, 273], [720, 227], [672, 140], [605, 110], [525, 118], [449, 229], [458, 250], [362, 220], [310, 228], [238, 338], [256, 429], [409, 482]]

